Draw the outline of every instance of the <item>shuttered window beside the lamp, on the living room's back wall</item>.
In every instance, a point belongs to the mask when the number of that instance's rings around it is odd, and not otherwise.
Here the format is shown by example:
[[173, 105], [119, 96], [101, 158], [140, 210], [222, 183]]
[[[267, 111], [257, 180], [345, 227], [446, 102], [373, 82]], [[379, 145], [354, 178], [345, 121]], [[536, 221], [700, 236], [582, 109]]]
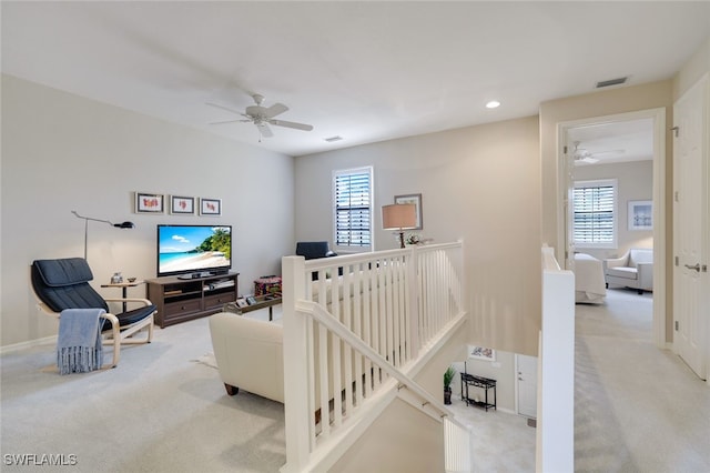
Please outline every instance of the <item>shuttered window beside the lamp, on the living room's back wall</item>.
[[335, 171], [335, 245], [368, 249], [372, 244], [373, 169]]

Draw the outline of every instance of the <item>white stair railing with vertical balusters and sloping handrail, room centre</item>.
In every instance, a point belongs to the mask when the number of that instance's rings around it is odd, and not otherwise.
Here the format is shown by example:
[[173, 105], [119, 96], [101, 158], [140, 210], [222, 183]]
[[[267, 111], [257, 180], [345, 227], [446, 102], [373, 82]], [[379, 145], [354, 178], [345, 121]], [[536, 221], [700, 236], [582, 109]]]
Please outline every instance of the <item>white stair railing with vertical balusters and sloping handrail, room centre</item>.
[[452, 243], [283, 259], [283, 472], [337, 460], [403, 388], [400, 399], [415, 405], [414, 395], [423, 412], [455, 423], [412, 375], [442, 333], [465, 321], [462, 252]]

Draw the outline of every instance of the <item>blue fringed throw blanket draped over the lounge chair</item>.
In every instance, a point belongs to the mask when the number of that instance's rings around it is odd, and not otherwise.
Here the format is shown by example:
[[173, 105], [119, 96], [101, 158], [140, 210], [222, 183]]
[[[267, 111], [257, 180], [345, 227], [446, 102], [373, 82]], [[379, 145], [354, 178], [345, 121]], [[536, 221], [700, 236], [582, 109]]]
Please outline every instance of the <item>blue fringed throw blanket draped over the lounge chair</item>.
[[59, 374], [84, 373], [103, 365], [100, 318], [103, 309], [65, 309], [59, 316]]

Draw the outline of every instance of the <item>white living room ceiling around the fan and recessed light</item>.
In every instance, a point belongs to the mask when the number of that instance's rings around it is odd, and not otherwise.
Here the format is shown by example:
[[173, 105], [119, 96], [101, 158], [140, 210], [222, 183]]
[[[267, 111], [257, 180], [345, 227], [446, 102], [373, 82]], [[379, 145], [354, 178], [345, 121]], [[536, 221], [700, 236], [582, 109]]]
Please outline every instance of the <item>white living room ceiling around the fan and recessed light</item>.
[[[291, 155], [527, 117], [540, 102], [671, 78], [710, 2], [12, 2], [2, 72]], [[621, 85], [622, 87], [622, 85]], [[250, 94], [280, 119], [258, 142]], [[487, 110], [487, 101], [503, 104]], [[342, 141], [324, 139], [339, 135]]]

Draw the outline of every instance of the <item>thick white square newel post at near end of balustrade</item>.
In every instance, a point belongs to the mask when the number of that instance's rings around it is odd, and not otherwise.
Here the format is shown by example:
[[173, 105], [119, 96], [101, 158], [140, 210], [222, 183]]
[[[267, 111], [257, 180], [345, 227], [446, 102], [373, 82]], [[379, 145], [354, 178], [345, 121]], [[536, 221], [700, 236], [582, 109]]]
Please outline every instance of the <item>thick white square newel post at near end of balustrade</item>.
[[295, 310], [295, 302], [305, 299], [305, 259], [283, 256], [283, 325], [284, 325], [284, 416], [286, 464], [283, 473], [300, 472], [308, 461], [312, 414], [308, 409], [308, 369], [306, 316]]

